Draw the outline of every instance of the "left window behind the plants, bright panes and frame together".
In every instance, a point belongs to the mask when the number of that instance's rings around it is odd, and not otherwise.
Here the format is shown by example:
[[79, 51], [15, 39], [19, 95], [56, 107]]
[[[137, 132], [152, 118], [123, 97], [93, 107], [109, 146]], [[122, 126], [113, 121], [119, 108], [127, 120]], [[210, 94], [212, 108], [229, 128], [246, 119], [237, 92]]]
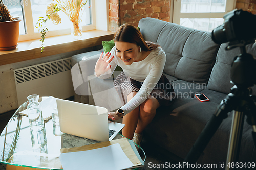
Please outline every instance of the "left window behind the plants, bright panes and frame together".
[[[40, 16], [46, 16], [47, 4], [52, 0], [3, 0], [3, 3], [10, 9], [11, 15], [22, 19], [19, 29], [19, 41], [39, 39], [41, 34], [35, 28]], [[95, 21], [93, 20], [94, 0], [88, 0], [84, 7], [82, 18], [82, 30], [95, 29]], [[89, 6], [91, 6], [89, 8]], [[69, 34], [71, 32], [71, 21], [61, 11], [58, 12], [61, 17], [61, 23], [54, 25], [50, 20], [47, 21], [47, 37]]]

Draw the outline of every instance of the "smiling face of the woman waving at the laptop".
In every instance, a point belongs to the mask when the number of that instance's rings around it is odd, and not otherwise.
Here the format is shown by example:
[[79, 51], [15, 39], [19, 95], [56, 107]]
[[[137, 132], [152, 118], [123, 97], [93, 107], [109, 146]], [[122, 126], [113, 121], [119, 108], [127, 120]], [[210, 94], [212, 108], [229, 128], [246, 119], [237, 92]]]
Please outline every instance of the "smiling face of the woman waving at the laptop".
[[125, 65], [131, 65], [134, 61], [138, 60], [139, 46], [129, 42], [115, 42], [116, 55]]

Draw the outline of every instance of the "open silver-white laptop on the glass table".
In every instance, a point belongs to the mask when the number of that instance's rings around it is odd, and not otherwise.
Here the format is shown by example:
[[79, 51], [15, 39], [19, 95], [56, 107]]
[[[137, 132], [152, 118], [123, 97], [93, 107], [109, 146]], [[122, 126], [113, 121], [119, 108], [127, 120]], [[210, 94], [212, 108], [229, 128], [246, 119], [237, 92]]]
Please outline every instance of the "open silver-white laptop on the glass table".
[[124, 124], [108, 120], [104, 107], [57, 99], [60, 130], [97, 141], [112, 140]]

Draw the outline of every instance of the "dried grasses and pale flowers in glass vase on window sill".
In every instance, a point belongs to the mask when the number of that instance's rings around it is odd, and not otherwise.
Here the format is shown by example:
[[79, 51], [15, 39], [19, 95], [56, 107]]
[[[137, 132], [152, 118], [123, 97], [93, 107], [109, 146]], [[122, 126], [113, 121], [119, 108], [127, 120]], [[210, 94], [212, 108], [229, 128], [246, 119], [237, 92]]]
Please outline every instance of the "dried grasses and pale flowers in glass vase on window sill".
[[82, 11], [82, 8], [86, 5], [86, 3], [87, 0], [53, 0], [53, 2], [49, 6], [47, 6], [46, 18], [39, 17], [39, 20], [35, 26], [42, 34], [40, 39], [40, 41], [42, 41], [41, 53], [44, 52], [43, 43], [45, 41], [46, 32], [49, 31], [46, 28], [47, 20], [52, 20], [55, 25], [61, 23], [61, 18], [57, 14], [58, 11], [62, 11], [63, 13], [65, 13], [70, 21], [73, 23], [74, 30], [72, 34], [74, 35], [74, 37], [81, 37], [82, 30], [79, 27], [79, 23], [81, 22], [80, 17], [82, 14], [80, 12]]

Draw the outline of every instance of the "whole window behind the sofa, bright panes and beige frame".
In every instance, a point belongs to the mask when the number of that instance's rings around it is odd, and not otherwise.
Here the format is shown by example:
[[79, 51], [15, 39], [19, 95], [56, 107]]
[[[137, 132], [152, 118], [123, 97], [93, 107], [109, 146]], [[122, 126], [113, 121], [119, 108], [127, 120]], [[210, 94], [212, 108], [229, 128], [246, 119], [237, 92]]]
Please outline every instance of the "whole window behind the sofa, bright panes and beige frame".
[[232, 11], [236, 0], [174, 0], [173, 22], [203, 31], [212, 31]]

